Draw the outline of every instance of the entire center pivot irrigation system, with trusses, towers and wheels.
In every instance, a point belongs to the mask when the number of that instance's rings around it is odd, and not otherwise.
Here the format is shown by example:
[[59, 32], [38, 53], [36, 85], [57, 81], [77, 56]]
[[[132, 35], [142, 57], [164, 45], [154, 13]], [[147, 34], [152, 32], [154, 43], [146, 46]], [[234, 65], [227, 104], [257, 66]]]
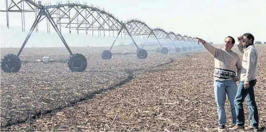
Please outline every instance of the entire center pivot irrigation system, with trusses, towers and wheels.
[[[21, 69], [22, 62], [41, 62], [48, 64], [49, 62], [67, 62], [67, 67], [71, 72], [83, 72], [87, 68], [87, 59], [83, 54], [72, 53], [68, 47], [65, 38], [62, 35], [62, 27], [69, 28], [69, 33], [71, 34], [71, 29], [77, 31], [79, 34], [80, 31], [85, 31], [86, 35], [88, 31], [92, 31], [94, 36], [95, 31], [98, 31], [98, 36], [103, 34], [110, 34], [114, 37], [117, 32], [117, 36], [109, 50], [104, 50], [101, 54], [102, 59], [111, 59], [112, 53], [111, 49], [114, 46], [114, 43], [118, 36], [123, 33], [125, 37], [130, 37], [136, 46], [136, 56], [139, 59], [145, 59], [148, 55], [147, 51], [143, 49], [147, 40], [157, 39], [158, 44], [161, 46], [161, 53], [167, 54], [168, 48], [163, 47], [159, 39], [170, 39], [171, 43], [175, 47], [175, 52], [180, 52], [181, 50], [175, 46], [173, 41], [190, 41], [196, 42], [196, 38], [181, 36], [180, 34], [175, 34], [174, 32], [167, 33], [162, 28], [150, 28], [144, 22], [140, 20], [129, 20], [125, 23], [119, 21], [118, 18], [115, 18], [113, 14], [110, 14], [104, 9], [99, 7], [94, 7], [92, 4], [89, 6], [87, 3], [80, 4], [78, 1], [72, 3], [71, 1], [66, 1], [66, 4], [62, 2], [57, 2], [55, 5], [45, 3], [42, 5], [41, 1], [33, 0], [5, 0], [6, 10], [1, 10], [1, 12], [6, 12], [6, 23], [7, 28], [9, 28], [9, 12], [20, 12], [21, 13], [21, 23], [22, 31], [25, 32], [25, 13], [34, 12], [35, 21], [23, 42], [19, 52], [17, 54], [9, 53], [3, 56], [1, 59], [1, 70], [7, 73], [16, 73]], [[9, 6], [8, 6], [9, 5]], [[26, 7], [27, 6], [27, 7]], [[33, 16], [33, 15], [32, 15]], [[50, 26], [54, 28], [62, 42], [64, 43], [67, 51], [70, 56], [68, 59], [52, 60], [50, 57], [43, 57], [42, 60], [21, 60], [19, 55], [23, 51], [26, 43], [31, 37], [34, 30], [38, 32], [39, 23], [46, 19], [47, 33], [50, 34]], [[121, 34], [122, 36], [122, 34]], [[141, 48], [139, 48], [134, 41], [133, 37], [145, 37], [146, 41]], [[160, 51], [159, 49], [159, 51]], [[184, 51], [184, 50], [183, 50]], [[115, 53], [114, 53], [115, 54]], [[125, 53], [129, 54], [129, 53]]]

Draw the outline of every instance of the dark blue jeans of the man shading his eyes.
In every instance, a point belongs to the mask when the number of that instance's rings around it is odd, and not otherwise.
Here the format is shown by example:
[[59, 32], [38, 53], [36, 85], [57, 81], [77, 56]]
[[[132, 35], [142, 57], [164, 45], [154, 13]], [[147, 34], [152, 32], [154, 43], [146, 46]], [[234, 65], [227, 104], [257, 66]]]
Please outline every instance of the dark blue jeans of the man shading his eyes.
[[236, 125], [243, 126], [245, 124], [245, 115], [243, 109], [243, 102], [247, 99], [247, 106], [249, 107], [250, 126], [257, 127], [259, 125], [259, 112], [255, 102], [254, 86], [256, 79], [249, 81], [249, 87], [244, 88], [244, 81], [240, 81], [237, 93], [234, 99], [234, 106], [237, 115]]

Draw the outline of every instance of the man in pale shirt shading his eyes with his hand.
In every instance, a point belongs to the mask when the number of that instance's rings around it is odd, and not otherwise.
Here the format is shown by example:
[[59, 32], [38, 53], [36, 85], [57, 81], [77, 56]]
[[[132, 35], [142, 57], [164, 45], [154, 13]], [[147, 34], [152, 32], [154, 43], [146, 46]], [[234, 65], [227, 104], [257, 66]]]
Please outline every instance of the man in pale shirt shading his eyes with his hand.
[[250, 125], [246, 130], [257, 130], [259, 126], [259, 113], [255, 101], [254, 86], [257, 80], [258, 51], [254, 45], [254, 36], [251, 33], [245, 33], [237, 39], [239, 41], [237, 47], [239, 51], [243, 53], [243, 58], [240, 82], [234, 99], [237, 119], [236, 125], [231, 130], [235, 131], [245, 128], [245, 115], [243, 109], [245, 98], [247, 99], [250, 118]]

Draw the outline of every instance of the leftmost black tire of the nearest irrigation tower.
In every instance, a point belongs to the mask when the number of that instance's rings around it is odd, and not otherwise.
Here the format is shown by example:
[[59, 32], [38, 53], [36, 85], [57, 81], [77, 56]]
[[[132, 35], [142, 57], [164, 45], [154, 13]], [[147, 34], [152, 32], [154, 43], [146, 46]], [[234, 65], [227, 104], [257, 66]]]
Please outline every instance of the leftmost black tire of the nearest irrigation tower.
[[21, 60], [16, 54], [9, 53], [3, 56], [0, 66], [6, 73], [17, 73], [21, 68]]

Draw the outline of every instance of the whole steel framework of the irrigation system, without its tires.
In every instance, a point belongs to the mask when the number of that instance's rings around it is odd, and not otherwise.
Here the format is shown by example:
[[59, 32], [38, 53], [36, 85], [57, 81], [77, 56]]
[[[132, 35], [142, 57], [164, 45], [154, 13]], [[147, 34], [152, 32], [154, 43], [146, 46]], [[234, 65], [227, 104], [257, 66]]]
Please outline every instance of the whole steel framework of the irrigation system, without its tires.
[[[11, 1], [11, 2], [8, 2], [8, 1]], [[149, 26], [147, 26], [147, 24], [137, 19], [131, 19], [123, 23], [122, 21], [119, 21], [118, 18], [115, 18], [113, 14], [110, 14], [108, 11], [105, 11], [104, 9], [100, 9], [99, 7], [94, 7], [92, 4], [90, 4], [89, 6], [85, 2], [83, 4], [80, 4], [80, 2], [78, 1], [75, 1], [74, 3], [71, 3], [71, 1], [67, 1], [65, 4], [63, 4], [62, 1], [60, 1], [60, 2], [57, 2], [55, 5], [52, 5], [51, 3], [45, 3], [44, 5], [42, 5], [41, 1], [34, 2], [32, 0], [5, 0], [5, 2], [6, 2], [6, 10], [1, 10], [1, 12], [6, 12], [7, 28], [9, 28], [9, 18], [8, 18], [9, 12], [20, 12], [21, 13], [21, 22], [22, 22], [23, 32], [25, 32], [25, 12], [35, 13], [35, 21], [33, 22], [33, 25], [25, 41], [23, 42], [19, 52], [17, 53], [16, 55], [17, 57], [19, 57], [19, 55], [23, 51], [34, 29], [36, 30], [36, 32], [38, 32], [38, 25], [44, 19], [46, 19], [47, 33], [50, 34], [50, 27], [52, 26], [54, 30], [56, 31], [56, 33], [58, 34], [58, 36], [60, 37], [60, 39], [62, 40], [70, 56], [73, 56], [73, 53], [71, 52], [70, 48], [68, 47], [66, 43], [65, 38], [62, 35], [62, 27], [68, 28], [70, 34], [72, 30], [76, 30], [77, 34], [79, 34], [81, 31], [84, 31], [86, 35], [88, 34], [88, 31], [92, 31], [92, 36], [94, 36], [94, 32], [98, 31], [99, 37], [101, 36], [101, 34], [103, 34], [103, 36], [106, 36], [106, 34], [108, 34], [110, 37], [111, 33], [112, 33], [112, 36], [114, 37], [117, 32], [116, 38], [111, 48], [108, 50], [108, 52], [111, 51], [116, 39], [118, 38], [120, 33], [123, 31], [123, 33], [125, 34], [125, 37], [126, 36], [130, 37], [134, 45], [136, 46], [137, 48], [136, 54], [139, 55], [140, 51], [142, 50], [140, 53], [142, 54], [142, 58], [147, 57], [147, 52], [143, 49], [143, 47], [145, 46], [149, 38], [151, 39], [155, 38], [158, 41], [162, 49], [163, 49], [163, 46], [161, 45], [159, 39], [168, 38], [171, 40], [171, 42], [172, 42], [172, 39], [174, 40], [176, 39], [179, 41], [188, 40], [186, 36], [181, 37], [180, 34], [175, 35], [173, 32], [167, 33], [162, 28], [152, 29]], [[10, 5], [8, 6], [9, 3]], [[25, 6], [28, 6], [28, 7], [25, 7]], [[121, 37], [122, 36], [123, 35], [121, 34]], [[139, 38], [140, 36], [146, 38], [146, 41], [143, 44], [142, 48], [139, 48], [133, 39], [133, 37]], [[189, 38], [189, 40], [193, 40], [193, 39]], [[174, 45], [173, 42], [172, 44]], [[145, 57], [143, 57], [143, 53]], [[20, 60], [20, 61], [21, 62], [44, 62], [44, 60]], [[49, 62], [68, 62], [69, 59], [68, 60], [48, 60], [48, 61]], [[86, 60], [86, 64], [87, 64], [87, 60]]]

